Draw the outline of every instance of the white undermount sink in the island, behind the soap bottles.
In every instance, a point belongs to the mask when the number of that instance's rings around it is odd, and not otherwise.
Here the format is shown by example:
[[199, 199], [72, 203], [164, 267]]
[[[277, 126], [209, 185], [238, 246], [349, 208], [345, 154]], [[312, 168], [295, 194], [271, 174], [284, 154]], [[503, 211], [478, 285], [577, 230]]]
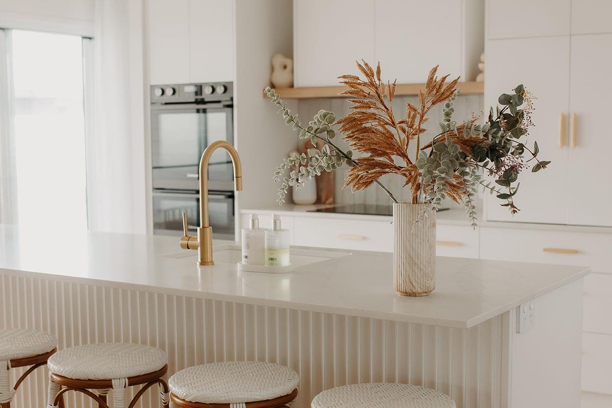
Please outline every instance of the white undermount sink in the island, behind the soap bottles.
[[[191, 258], [197, 256], [197, 251], [181, 251], [179, 253], [163, 255], [164, 258]], [[308, 250], [290, 248], [289, 256], [293, 267], [299, 267], [328, 259], [341, 258], [350, 255], [349, 252], [335, 252], [326, 250]], [[212, 247], [212, 259], [215, 264], [237, 264], [242, 260], [242, 248], [237, 244], [216, 245]]]

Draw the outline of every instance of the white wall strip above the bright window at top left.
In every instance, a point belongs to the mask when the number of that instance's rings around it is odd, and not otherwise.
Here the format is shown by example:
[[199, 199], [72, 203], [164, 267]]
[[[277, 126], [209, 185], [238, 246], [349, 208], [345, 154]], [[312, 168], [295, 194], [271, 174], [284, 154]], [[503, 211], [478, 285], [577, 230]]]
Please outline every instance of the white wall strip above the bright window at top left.
[[95, 0], [0, 0], [0, 27], [92, 35]]

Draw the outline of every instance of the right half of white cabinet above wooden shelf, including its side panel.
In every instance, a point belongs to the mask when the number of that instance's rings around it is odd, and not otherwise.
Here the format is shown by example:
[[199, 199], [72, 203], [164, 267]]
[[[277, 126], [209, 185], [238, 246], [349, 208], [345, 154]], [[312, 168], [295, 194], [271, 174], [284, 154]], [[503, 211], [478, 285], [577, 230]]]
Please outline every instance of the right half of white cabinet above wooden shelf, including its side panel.
[[[476, 79], [484, 50], [482, 0], [376, 0], [374, 7], [375, 61], [386, 78], [424, 83], [439, 65], [438, 72], [452, 78]], [[429, 16], [435, 16], [435, 29]]]

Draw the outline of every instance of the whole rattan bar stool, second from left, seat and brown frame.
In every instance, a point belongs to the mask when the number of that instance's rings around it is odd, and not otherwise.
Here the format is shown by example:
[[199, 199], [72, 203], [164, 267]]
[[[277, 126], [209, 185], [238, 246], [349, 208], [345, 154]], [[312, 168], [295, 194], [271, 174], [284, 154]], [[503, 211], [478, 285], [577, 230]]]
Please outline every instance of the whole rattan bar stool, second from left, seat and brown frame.
[[[125, 407], [125, 388], [144, 384], [128, 407], [132, 408], [152, 385], [158, 384], [164, 407], [168, 407], [166, 353], [151, 346], [132, 343], [97, 343], [58, 351], [48, 361], [47, 407], [58, 408], [62, 395], [76, 391], [88, 395], [100, 408], [113, 390], [113, 407]], [[62, 388], [65, 387], [65, 388]]]

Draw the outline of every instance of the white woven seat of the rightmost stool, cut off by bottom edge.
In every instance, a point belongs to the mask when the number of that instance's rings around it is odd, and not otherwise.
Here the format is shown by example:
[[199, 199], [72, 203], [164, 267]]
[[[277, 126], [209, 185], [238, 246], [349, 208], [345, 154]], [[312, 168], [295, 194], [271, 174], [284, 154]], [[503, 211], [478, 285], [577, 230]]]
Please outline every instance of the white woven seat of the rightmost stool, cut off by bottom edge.
[[323, 391], [312, 408], [455, 408], [446, 394], [417, 385], [353, 384]]

